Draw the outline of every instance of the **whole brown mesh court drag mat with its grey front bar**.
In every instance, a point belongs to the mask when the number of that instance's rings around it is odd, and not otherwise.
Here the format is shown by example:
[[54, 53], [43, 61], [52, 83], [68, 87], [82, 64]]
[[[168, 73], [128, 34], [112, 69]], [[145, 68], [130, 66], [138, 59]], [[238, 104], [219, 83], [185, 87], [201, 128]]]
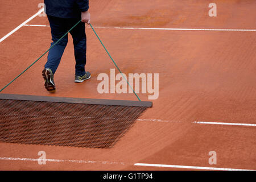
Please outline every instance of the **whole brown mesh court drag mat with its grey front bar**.
[[0, 94], [1, 142], [109, 148], [152, 102]]

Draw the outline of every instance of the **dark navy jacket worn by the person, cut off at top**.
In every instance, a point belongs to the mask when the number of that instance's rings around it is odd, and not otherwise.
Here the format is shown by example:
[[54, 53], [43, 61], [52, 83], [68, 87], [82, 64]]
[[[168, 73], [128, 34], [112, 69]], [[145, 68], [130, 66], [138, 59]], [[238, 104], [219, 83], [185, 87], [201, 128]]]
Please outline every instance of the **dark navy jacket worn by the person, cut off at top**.
[[46, 14], [60, 18], [81, 18], [89, 9], [89, 0], [44, 0]]

